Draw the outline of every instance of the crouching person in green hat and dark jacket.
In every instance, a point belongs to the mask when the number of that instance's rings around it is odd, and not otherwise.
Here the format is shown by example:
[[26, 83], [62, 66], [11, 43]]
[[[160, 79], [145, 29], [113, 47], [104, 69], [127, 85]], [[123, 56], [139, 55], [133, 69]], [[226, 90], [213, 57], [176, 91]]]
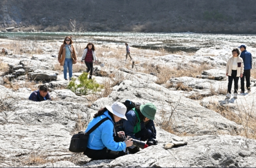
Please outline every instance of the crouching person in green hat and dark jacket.
[[[127, 100], [129, 101], [129, 100]], [[155, 114], [157, 107], [153, 103], [146, 103], [144, 105], [136, 105], [135, 108], [125, 113], [127, 120], [122, 120], [122, 129], [126, 136], [140, 141], [147, 141], [147, 145], [156, 145], [157, 132], [155, 130]], [[138, 147], [131, 146], [129, 151], [136, 153], [139, 151]]]

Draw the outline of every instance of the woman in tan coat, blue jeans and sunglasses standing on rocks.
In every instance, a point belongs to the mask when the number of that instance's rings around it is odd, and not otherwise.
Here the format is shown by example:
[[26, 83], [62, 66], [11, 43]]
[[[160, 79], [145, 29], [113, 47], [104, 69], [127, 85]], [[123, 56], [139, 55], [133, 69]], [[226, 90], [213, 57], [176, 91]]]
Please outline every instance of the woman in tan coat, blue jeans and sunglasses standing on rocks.
[[72, 65], [75, 64], [77, 61], [76, 58], [76, 51], [73, 46], [73, 41], [71, 37], [67, 36], [64, 39], [63, 44], [60, 46], [58, 61], [61, 66], [63, 66], [63, 74], [64, 79], [67, 79], [67, 72], [69, 75], [69, 80], [72, 78]]

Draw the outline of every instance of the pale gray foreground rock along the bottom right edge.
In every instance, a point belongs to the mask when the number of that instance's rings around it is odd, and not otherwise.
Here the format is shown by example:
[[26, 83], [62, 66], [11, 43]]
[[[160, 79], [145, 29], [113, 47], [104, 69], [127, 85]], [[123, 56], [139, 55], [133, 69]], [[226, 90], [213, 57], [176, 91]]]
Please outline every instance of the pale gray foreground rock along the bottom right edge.
[[135, 155], [90, 161], [83, 167], [255, 167], [255, 140], [239, 136], [194, 136], [188, 144], [149, 146]]

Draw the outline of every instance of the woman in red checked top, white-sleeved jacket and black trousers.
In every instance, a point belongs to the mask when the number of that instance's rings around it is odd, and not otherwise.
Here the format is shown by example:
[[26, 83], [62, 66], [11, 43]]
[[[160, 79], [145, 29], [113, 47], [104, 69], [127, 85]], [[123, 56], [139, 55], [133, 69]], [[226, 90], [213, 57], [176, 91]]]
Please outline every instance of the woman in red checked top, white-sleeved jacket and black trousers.
[[87, 46], [84, 48], [81, 63], [83, 62], [83, 60], [87, 67], [86, 72], [89, 73], [90, 71], [89, 79], [91, 79], [91, 77], [93, 76], [93, 61], [97, 63], [97, 57], [95, 54], [95, 48], [93, 43], [88, 43]]

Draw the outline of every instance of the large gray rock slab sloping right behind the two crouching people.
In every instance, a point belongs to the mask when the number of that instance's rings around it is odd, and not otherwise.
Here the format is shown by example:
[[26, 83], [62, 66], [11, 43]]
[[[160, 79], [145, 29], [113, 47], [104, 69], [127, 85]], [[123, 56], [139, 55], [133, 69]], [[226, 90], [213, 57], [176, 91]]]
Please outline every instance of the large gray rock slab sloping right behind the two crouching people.
[[[221, 131], [229, 134], [233, 129], [240, 129], [240, 125], [235, 122], [227, 120], [212, 110], [203, 108], [191, 99], [177, 95], [176, 91], [170, 91], [155, 83], [126, 80], [120, 85], [114, 86], [113, 89], [109, 95], [113, 101], [124, 102], [126, 99], [130, 99], [134, 102], [154, 103], [158, 109], [155, 117], [158, 123], [163, 119], [161, 117], [163, 112], [165, 112], [165, 117], [170, 117], [173, 111], [172, 129], [175, 132], [203, 135]], [[94, 102], [94, 106], [101, 107], [102, 104], [110, 103], [109, 100], [106, 103], [103, 99], [99, 100]]]

